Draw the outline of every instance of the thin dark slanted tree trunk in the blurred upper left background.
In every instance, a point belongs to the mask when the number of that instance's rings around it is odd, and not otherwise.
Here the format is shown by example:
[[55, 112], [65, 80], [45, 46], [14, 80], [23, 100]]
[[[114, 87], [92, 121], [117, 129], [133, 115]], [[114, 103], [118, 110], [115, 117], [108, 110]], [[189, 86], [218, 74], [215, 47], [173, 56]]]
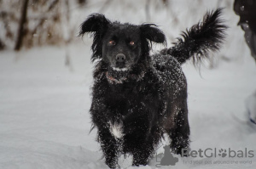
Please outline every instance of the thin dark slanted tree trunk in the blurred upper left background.
[[24, 25], [26, 23], [27, 5], [28, 5], [28, 0], [24, 0], [23, 6], [21, 9], [21, 18], [20, 18], [20, 25], [19, 25], [19, 30], [18, 30], [18, 37], [17, 37], [17, 41], [16, 41], [16, 45], [15, 45], [16, 51], [19, 51], [22, 46], [22, 40], [24, 37]]

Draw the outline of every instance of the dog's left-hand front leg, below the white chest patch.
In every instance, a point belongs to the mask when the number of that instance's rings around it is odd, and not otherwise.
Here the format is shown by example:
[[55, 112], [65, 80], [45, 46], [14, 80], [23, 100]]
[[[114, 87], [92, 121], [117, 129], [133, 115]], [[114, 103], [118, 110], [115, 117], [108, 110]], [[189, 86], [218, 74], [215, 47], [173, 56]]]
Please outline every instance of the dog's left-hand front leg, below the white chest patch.
[[113, 138], [108, 128], [99, 129], [98, 141], [101, 144], [102, 151], [106, 160], [105, 162], [109, 166], [109, 168], [119, 168], [119, 143], [115, 138]]

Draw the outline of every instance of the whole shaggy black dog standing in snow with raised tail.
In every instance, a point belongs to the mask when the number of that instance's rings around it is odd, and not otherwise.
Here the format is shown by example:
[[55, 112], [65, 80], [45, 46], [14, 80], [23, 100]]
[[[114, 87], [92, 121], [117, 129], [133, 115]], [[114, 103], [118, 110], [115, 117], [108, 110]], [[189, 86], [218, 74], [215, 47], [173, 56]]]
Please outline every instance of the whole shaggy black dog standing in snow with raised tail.
[[111, 22], [91, 14], [80, 36], [92, 33], [94, 70], [91, 120], [98, 129], [106, 164], [118, 168], [119, 153], [133, 155], [133, 166], [147, 165], [164, 133], [181, 154], [189, 148], [187, 83], [181, 65], [195, 64], [220, 48], [226, 26], [221, 9], [207, 13], [202, 23], [183, 32], [174, 47], [149, 55], [152, 42], [166, 43], [154, 24]]

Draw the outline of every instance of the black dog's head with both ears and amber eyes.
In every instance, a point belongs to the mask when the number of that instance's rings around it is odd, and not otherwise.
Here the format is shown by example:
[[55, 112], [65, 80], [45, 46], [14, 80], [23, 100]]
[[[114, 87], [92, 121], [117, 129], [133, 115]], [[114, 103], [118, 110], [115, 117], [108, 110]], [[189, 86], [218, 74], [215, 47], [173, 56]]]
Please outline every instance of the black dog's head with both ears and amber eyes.
[[165, 43], [166, 37], [154, 24], [131, 25], [111, 22], [103, 14], [90, 14], [79, 36], [92, 33], [92, 61], [102, 59], [113, 71], [132, 70], [148, 58], [152, 42]]

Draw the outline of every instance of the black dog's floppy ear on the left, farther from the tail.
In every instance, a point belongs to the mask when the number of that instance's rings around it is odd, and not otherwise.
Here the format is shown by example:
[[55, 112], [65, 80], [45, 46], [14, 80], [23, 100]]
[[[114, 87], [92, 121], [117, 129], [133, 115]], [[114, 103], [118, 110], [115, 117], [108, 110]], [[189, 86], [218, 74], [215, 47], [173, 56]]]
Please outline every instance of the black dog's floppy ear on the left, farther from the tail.
[[103, 14], [90, 14], [87, 20], [80, 25], [79, 36], [84, 33], [102, 33], [108, 28], [110, 21]]

